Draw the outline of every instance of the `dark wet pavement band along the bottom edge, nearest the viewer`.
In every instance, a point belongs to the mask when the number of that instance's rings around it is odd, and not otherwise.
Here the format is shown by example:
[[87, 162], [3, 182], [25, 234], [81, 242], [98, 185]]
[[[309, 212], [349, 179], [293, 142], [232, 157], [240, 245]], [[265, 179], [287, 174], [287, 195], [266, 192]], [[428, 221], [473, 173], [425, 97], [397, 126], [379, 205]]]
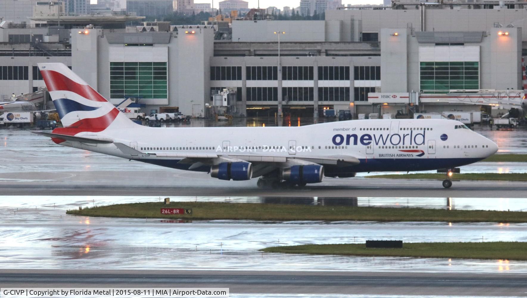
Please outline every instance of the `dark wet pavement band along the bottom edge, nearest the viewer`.
[[[0, 271], [0, 283], [32, 286], [229, 287], [232, 293], [526, 296], [524, 274], [280, 271]], [[382, 284], [382, 286], [379, 286]], [[29, 286], [27, 283], [25, 286]], [[237, 295], [233, 295], [237, 297]], [[260, 295], [258, 295], [260, 296]], [[267, 295], [266, 295], [267, 296]], [[272, 296], [272, 295], [270, 295]], [[280, 295], [282, 296], [282, 295]]]

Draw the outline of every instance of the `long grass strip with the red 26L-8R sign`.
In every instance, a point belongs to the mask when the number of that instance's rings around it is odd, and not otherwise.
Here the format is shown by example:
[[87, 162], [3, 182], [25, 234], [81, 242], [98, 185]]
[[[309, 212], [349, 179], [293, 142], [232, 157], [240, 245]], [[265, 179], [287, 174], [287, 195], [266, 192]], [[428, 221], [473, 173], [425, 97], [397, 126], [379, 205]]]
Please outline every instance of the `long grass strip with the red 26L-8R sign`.
[[[192, 215], [164, 215], [160, 208], [192, 208]], [[363, 220], [379, 222], [500, 222], [525, 223], [526, 212], [309, 206], [215, 202], [131, 203], [68, 210], [67, 214], [102, 217], [249, 220]]]

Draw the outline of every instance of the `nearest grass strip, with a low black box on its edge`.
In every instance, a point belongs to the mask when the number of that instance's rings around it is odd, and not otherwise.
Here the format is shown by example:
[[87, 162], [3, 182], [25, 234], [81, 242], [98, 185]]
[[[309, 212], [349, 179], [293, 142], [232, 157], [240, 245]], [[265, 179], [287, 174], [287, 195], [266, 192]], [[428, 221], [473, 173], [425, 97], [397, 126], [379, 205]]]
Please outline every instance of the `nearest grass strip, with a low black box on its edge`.
[[[527, 260], [527, 242], [426, 242], [404, 243], [403, 248], [366, 248], [366, 244], [307, 244], [260, 249], [268, 253], [477, 258]], [[506, 265], [506, 262], [502, 262]]]

